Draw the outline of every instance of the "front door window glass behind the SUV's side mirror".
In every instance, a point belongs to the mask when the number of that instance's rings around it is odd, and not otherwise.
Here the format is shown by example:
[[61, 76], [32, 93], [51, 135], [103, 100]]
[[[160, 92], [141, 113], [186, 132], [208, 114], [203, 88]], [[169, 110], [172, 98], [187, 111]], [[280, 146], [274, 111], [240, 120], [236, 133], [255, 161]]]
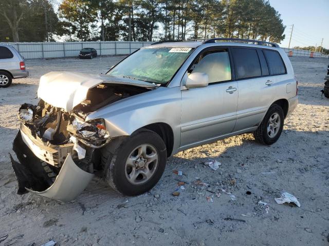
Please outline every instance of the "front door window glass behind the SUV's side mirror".
[[231, 65], [228, 51], [208, 51], [192, 66], [192, 73], [207, 73], [209, 83], [231, 80]]

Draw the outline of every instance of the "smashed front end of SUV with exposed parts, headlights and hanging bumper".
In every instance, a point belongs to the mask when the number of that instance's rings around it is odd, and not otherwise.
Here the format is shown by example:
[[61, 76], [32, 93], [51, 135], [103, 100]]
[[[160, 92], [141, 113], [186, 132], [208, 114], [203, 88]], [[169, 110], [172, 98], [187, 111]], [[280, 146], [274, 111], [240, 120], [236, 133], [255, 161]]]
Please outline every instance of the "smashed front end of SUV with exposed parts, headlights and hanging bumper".
[[104, 120], [66, 112], [43, 100], [20, 108], [20, 131], [13, 142], [12, 167], [18, 194], [27, 191], [64, 202], [75, 199], [94, 176], [95, 151], [106, 145]]

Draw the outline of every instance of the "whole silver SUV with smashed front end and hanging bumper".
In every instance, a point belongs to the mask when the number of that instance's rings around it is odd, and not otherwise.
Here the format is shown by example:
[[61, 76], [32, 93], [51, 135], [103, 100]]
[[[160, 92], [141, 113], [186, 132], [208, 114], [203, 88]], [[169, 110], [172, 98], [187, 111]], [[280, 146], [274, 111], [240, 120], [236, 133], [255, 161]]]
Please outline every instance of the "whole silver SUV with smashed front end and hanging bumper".
[[105, 75], [50, 72], [38, 96], [21, 106], [12, 166], [19, 193], [62, 201], [94, 170], [133, 196], [155, 186], [179, 151], [243, 133], [272, 145], [298, 104], [277, 44], [220, 38], [143, 47]]

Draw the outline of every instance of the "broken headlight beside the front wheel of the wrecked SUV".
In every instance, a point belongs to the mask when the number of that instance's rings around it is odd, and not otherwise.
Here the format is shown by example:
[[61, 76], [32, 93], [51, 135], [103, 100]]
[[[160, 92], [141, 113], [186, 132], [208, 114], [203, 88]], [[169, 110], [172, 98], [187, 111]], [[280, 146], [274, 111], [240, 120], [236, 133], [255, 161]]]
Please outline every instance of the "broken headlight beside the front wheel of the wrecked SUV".
[[95, 144], [102, 144], [102, 140], [109, 137], [104, 119], [81, 121], [79, 118], [75, 118], [72, 120], [72, 127], [78, 136], [88, 140], [95, 140]]

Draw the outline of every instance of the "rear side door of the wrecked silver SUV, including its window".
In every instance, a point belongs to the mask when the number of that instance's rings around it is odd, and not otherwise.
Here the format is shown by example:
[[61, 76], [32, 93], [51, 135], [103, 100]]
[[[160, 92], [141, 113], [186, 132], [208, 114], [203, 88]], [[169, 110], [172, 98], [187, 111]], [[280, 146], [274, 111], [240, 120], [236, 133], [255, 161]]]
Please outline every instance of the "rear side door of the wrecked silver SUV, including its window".
[[275, 97], [276, 89], [262, 49], [231, 48], [239, 88], [234, 132], [256, 127]]

